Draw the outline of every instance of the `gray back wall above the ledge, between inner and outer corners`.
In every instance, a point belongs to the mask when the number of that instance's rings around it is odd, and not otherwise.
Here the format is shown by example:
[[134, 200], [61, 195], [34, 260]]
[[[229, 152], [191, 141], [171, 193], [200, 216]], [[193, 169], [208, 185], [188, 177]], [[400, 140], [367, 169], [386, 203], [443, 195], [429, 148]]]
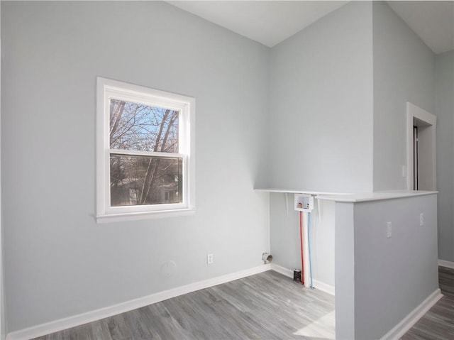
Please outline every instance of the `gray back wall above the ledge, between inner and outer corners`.
[[272, 48], [268, 187], [372, 190], [372, 4]]

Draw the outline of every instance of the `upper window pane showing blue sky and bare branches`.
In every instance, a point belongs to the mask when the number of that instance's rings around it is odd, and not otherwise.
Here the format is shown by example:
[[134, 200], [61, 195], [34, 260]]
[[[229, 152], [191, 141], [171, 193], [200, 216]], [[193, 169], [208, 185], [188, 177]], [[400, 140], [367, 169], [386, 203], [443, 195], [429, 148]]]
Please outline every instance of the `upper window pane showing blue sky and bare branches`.
[[110, 148], [178, 153], [179, 111], [110, 99]]

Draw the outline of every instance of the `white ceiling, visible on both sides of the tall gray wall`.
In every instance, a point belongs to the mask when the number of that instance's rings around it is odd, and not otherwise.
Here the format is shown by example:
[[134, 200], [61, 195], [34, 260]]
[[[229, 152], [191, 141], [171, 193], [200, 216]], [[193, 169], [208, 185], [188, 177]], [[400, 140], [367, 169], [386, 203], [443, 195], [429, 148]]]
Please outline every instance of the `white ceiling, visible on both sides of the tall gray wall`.
[[[167, 1], [272, 47], [348, 1]], [[387, 1], [433, 53], [454, 49], [454, 1]]]

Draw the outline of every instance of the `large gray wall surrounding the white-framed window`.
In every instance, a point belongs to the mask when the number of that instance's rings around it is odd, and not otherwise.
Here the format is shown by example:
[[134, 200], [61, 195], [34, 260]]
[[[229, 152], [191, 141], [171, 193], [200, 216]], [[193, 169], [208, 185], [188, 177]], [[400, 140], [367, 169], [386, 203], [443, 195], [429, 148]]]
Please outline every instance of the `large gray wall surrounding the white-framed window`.
[[[9, 331], [262, 263], [268, 48], [157, 1], [1, 1], [1, 44]], [[195, 216], [95, 223], [96, 76], [196, 98]]]

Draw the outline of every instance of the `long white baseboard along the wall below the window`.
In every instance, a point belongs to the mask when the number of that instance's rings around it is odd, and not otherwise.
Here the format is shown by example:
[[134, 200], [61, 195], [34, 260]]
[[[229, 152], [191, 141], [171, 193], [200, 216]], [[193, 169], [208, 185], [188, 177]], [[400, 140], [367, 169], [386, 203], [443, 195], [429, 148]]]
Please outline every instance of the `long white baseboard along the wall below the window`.
[[7, 334], [6, 340], [33, 339], [38, 336], [54, 333], [55, 331], [62, 331], [63, 329], [80, 326], [82, 324], [87, 324], [88, 322], [94, 322], [99, 319], [104, 319], [105, 317], [111, 317], [113, 315], [128, 312], [133, 309], [152, 305], [153, 303], [164, 301], [172, 297], [177, 297], [179, 295], [184, 295], [189, 292], [195, 292], [196, 290], [213, 287], [215, 285], [220, 285], [221, 283], [228, 283], [233, 280], [238, 280], [240, 278], [245, 278], [250, 275], [262, 273], [270, 269], [271, 269], [270, 264], [260, 265], [258, 267], [240, 270], [239, 272], [236, 273], [218, 276], [217, 278], [211, 278], [208, 280], [199, 281], [197, 283], [191, 283], [189, 285], [176, 287], [170, 290], [165, 290], [163, 292], [157, 292], [155, 294], [148, 295], [145, 297], [139, 297], [138, 299], [135, 300], [119, 303], [118, 305], [96, 309], [91, 312], [77, 314], [72, 317], [58, 319], [52, 322], [47, 322], [45, 324], [38, 324], [36, 326], [29, 327], [26, 329], [12, 331], [11, 333]]

